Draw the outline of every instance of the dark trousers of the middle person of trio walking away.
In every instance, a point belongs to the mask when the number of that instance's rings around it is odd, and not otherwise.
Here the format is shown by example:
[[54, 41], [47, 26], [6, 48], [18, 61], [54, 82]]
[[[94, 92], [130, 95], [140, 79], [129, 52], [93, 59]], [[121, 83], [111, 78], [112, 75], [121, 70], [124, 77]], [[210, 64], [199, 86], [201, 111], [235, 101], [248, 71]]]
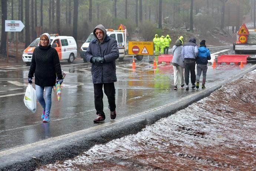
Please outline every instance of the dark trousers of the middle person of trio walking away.
[[186, 85], [188, 85], [188, 83], [189, 83], [189, 73], [190, 73], [191, 83], [194, 84], [196, 82], [196, 72], [195, 72], [196, 60], [185, 58], [184, 65], [185, 65], [184, 76], [185, 76]]

